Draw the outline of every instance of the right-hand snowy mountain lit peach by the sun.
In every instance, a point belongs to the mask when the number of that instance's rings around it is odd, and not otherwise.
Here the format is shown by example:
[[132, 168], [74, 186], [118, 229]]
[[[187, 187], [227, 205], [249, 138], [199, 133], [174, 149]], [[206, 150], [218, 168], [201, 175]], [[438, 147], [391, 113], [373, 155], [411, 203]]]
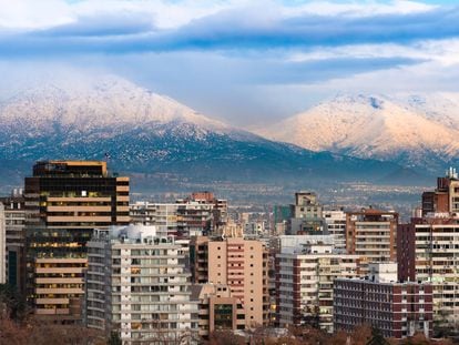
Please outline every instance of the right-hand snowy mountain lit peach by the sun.
[[339, 95], [256, 132], [313, 151], [442, 171], [459, 158], [459, 95]]

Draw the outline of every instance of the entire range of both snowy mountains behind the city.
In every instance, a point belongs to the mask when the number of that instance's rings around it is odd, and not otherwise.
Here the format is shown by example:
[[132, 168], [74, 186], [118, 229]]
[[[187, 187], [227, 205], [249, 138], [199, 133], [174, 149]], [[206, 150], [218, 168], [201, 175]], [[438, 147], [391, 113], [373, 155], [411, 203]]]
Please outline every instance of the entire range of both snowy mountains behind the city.
[[37, 160], [106, 153], [113, 170], [156, 184], [412, 182], [458, 156], [458, 99], [432, 100], [340, 95], [248, 132], [115, 75], [54, 78], [0, 101], [0, 177], [19, 184]]

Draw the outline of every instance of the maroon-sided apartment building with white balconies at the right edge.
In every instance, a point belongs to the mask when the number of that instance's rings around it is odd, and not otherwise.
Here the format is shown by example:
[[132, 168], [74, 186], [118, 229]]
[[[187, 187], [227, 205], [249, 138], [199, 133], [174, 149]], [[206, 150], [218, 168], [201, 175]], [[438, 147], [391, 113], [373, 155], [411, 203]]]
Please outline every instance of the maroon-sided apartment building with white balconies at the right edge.
[[430, 283], [436, 326], [459, 329], [459, 219], [412, 219], [398, 237], [399, 280]]

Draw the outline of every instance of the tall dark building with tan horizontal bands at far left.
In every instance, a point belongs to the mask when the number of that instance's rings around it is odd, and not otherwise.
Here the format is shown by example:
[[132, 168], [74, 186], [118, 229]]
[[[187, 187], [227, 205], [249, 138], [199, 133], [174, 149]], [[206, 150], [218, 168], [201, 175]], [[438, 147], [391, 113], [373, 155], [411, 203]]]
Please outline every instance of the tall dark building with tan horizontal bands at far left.
[[95, 227], [129, 224], [129, 177], [106, 162], [38, 162], [24, 199], [28, 300], [42, 317], [78, 322], [86, 242]]

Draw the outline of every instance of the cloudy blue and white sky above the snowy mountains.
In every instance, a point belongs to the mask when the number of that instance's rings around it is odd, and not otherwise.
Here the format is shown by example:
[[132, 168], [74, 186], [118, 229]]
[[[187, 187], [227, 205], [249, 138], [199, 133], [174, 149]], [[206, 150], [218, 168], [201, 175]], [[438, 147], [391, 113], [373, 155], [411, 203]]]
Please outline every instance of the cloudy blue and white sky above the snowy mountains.
[[0, 92], [43, 70], [110, 73], [247, 128], [336, 94], [459, 92], [459, 1], [0, 0]]

